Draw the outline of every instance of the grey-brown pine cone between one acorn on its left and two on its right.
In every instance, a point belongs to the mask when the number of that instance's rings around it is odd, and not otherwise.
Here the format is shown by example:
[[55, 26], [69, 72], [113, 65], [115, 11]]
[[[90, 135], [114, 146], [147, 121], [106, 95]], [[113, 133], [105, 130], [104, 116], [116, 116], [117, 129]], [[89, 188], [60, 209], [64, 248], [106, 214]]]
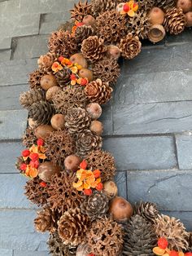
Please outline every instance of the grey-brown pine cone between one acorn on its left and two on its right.
[[69, 108], [65, 116], [65, 126], [70, 134], [80, 133], [90, 126], [90, 117], [85, 108]]

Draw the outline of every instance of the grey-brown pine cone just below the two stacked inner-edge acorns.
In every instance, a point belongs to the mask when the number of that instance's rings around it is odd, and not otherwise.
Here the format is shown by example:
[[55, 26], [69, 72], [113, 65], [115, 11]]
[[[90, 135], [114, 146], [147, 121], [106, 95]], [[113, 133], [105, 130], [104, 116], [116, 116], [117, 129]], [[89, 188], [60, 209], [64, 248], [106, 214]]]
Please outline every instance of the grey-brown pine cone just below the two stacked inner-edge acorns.
[[92, 150], [102, 148], [102, 138], [91, 132], [84, 130], [76, 136], [76, 151], [80, 157], [86, 157]]

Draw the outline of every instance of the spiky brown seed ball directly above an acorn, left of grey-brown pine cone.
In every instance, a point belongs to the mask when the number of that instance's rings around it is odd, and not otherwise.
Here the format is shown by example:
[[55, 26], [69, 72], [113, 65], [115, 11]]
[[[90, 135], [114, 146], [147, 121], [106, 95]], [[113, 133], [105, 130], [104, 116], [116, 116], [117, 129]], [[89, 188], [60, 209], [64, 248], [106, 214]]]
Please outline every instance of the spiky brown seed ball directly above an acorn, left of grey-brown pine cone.
[[75, 141], [67, 130], [57, 130], [46, 136], [46, 157], [55, 166], [63, 166], [66, 157], [75, 151]]

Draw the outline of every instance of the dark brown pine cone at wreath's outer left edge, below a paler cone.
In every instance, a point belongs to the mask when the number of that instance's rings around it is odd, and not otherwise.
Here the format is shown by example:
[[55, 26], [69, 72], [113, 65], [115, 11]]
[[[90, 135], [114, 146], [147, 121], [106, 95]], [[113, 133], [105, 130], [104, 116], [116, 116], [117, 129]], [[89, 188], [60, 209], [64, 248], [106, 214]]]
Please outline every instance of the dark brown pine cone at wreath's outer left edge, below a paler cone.
[[39, 125], [46, 125], [50, 123], [50, 118], [54, 115], [55, 109], [47, 102], [40, 101], [33, 103], [30, 108], [28, 108], [28, 115], [37, 121]]

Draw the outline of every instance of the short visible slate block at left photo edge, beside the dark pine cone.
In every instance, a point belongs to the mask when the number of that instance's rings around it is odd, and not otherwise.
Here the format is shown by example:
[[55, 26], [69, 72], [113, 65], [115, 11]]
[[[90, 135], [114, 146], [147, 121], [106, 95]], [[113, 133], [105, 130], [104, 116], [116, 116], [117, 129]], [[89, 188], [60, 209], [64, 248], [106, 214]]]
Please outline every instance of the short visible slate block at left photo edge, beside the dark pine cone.
[[27, 126], [28, 111], [0, 111], [0, 139], [20, 139]]

